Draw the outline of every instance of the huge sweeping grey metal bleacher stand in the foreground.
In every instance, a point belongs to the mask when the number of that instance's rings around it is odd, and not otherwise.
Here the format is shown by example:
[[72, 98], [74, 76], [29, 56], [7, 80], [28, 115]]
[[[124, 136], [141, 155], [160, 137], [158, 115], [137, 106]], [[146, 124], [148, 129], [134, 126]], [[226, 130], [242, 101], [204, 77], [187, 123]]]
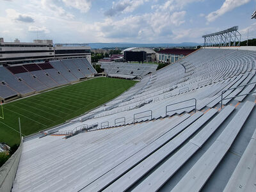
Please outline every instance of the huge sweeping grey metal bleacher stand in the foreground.
[[28, 138], [12, 191], [255, 191], [255, 60], [200, 49]]

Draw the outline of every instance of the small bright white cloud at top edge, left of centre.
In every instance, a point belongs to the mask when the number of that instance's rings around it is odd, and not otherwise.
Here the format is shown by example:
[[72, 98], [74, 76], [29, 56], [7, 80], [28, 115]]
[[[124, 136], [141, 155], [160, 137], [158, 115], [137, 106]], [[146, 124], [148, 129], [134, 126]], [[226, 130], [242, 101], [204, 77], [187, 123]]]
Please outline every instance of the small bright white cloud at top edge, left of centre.
[[73, 8], [76, 8], [77, 10], [80, 10], [83, 13], [86, 13], [90, 10], [92, 6], [91, 0], [62, 0], [63, 3], [66, 4], [66, 6], [71, 6]]

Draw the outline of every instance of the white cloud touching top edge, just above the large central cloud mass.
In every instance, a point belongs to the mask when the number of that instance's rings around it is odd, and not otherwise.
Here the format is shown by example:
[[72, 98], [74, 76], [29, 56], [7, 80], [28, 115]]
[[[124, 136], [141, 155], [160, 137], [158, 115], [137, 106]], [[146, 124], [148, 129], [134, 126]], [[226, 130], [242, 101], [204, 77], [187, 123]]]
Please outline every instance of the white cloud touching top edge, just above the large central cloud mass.
[[112, 7], [107, 10], [104, 15], [112, 17], [118, 13], [133, 12], [138, 6], [144, 4], [148, 0], [120, 0], [117, 3], [113, 1]]

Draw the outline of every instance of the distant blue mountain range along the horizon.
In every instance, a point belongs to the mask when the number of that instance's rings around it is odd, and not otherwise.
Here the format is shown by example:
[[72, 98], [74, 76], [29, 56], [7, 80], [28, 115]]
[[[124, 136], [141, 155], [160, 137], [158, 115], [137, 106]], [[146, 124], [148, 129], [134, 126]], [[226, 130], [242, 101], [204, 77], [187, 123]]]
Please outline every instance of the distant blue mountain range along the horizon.
[[92, 49], [127, 48], [127, 47], [195, 47], [202, 44], [184, 42], [180, 44], [132, 44], [132, 43], [89, 43]]

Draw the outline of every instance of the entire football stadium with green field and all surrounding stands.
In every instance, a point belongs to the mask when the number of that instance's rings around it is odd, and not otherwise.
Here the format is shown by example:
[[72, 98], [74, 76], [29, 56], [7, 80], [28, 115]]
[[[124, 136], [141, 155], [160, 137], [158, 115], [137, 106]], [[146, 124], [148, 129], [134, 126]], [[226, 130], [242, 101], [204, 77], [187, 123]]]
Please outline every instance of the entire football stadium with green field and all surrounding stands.
[[0, 38], [0, 192], [256, 191], [256, 46], [202, 38], [103, 72], [88, 44]]

